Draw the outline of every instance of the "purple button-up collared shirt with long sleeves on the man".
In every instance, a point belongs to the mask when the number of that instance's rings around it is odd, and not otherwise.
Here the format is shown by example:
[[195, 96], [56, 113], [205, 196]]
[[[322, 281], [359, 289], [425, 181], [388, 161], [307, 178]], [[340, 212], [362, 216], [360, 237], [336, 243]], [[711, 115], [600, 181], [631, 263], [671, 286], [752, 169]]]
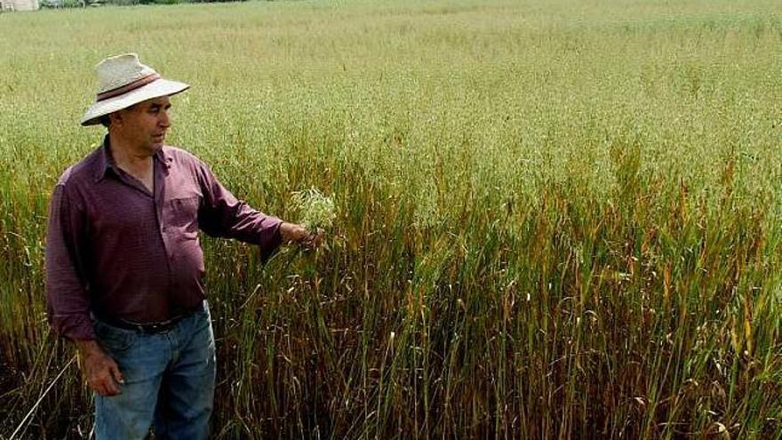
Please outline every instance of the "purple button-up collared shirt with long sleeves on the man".
[[198, 158], [164, 147], [155, 194], [114, 164], [104, 145], [68, 168], [54, 188], [46, 243], [49, 321], [73, 340], [95, 338], [90, 313], [160, 322], [204, 298], [198, 229], [258, 244], [282, 242], [281, 220], [253, 210]]

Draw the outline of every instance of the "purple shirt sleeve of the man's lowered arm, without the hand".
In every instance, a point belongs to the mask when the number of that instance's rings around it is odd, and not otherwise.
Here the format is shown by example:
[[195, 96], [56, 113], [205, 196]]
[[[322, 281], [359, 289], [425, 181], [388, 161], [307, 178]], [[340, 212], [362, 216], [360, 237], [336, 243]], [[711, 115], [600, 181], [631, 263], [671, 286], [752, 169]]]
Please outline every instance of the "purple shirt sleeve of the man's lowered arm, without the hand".
[[59, 183], [46, 232], [47, 311], [54, 331], [71, 340], [95, 339], [82, 264], [84, 226], [84, 209]]

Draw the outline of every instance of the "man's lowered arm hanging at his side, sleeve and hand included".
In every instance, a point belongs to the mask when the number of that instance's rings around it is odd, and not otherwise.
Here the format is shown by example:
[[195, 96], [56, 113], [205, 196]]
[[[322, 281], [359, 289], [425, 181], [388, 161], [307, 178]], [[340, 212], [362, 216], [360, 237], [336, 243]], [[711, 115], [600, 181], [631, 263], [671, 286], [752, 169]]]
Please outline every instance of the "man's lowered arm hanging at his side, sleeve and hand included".
[[84, 379], [103, 396], [119, 394], [122, 372], [100, 348], [90, 319], [80, 249], [84, 243], [84, 211], [71, 200], [64, 184], [54, 188], [46, 233], [46, 296], [49, 322], [55, 332], [76, 342], [84, 361]]

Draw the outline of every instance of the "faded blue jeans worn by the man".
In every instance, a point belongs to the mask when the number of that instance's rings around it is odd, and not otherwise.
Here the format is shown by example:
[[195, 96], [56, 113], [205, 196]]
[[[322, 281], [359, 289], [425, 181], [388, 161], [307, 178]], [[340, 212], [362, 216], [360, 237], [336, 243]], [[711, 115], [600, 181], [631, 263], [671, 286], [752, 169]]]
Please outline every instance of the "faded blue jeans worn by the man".
[[214, 397], [214, 333], [209, 307], [168, 332], [145, 334], [95, 322], [100, 346], [124, 374], [122, 394], [95, 396], [97, 440], [204, 439]]

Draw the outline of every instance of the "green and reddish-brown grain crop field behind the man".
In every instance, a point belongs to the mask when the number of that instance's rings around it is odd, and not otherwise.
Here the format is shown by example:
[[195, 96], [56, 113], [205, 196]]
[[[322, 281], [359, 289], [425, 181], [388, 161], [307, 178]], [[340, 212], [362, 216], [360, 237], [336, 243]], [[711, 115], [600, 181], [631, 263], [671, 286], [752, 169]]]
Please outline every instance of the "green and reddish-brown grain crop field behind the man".
[[44, 230], [138, 52], [236, 196], [337, 207], [266, 265], [203, 236], [215, 438], [780, 438], [780, 49], [777, 0], [0, 14], [0, 437], [89, 435]]

